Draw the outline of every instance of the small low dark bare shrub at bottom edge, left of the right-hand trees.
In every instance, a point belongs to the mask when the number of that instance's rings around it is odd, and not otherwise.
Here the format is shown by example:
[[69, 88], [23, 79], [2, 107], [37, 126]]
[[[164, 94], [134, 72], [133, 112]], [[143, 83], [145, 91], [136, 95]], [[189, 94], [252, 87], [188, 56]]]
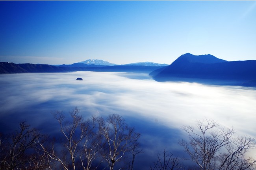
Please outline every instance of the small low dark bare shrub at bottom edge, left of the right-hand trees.
[[150, 166], [151, 170], [174, 170], [178, 169], [180, 162], [178, 157], [173, 157], [173, 154], [170, 152], [170, 155], [167, 154], [167, 151], [163, 150], [163, 156], [161, 154], [156, 154], [158, 160], [154, 163], [154, 166]]

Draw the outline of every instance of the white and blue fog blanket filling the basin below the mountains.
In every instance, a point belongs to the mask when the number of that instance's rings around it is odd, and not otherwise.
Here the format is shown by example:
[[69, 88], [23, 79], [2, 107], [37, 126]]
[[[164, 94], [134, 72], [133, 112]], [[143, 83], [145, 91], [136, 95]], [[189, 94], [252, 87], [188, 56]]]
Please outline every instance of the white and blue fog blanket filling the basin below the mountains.
[[[78, 77], [83, 81], [77, 81]], [[121, 72], [1, 74], [0, 87], [2, 132], [27, 121], [43, 132], [54, 133], [58, 123], [50, 112], [68, 113], [78, 107], [84, 117], [123, 116], [141, 132], [144, 154], [151, 158], [165, 147], [180, 152], [177, 141], [186, 137], [180, 127], [204, 118], [234, 127], [237, 135], [256, 137], [253, 88], [157, 82], [147, 74]]]

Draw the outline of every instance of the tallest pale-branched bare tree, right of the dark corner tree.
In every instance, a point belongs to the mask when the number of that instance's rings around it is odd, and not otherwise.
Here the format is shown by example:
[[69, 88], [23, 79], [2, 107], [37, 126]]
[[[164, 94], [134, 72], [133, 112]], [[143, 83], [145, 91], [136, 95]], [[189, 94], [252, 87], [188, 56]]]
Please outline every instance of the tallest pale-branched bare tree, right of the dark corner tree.
[[[102, 136], [98, 132], [98, 118], [92, 116], [84, 121], [78, 108], [69, 113], [71, 120], [66, 121], [67, 118], [63, 112], [52, 112], [54, 118], [58, 120], [63, 136], [61, 153], [56, 151], [54, 143], [40, 144], [41, 149], [50, 159], [58, 161], [65, 170], [69, 170], [70, 165], [72, 170], [76, 170], [78, 167], [89, 170], [93, 160], [98, 158], [98, 153], [102, 149]], [[80, 161], [77, 161], [79, 159]]]

